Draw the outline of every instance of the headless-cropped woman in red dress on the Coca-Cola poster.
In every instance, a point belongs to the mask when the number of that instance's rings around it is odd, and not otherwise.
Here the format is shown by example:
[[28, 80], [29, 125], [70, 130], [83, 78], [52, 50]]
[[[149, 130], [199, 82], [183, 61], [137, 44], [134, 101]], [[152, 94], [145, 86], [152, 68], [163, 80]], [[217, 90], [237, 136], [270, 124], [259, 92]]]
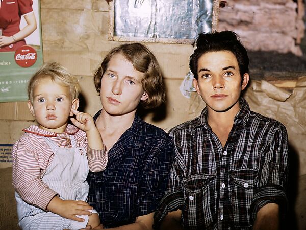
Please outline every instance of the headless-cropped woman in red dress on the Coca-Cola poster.
[[[36, 30], [32, 5], [32, 0], [0, 0], [0, 52], [16, 51], [25, 45], [24, 38]], [[28, 25], [20, 30], [22, 15]]]

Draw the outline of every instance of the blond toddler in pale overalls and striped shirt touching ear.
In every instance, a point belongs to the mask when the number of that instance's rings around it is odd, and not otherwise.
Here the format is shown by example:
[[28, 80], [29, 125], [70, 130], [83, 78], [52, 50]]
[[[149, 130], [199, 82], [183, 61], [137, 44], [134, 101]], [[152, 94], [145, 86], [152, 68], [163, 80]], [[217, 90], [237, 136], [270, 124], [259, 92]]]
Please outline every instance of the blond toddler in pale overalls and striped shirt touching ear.
[[[30, 79], [31, 125], [14, 144], [13, 186], [22, 229], [81, 229], [100, 224], [86, 203], [90, 171], [105, 169], [108, 155], [92, 117], [77, 111], [78, 79], [59, 63]], [[68, 124], [69, 117], [74, 124]], [[83, 130], [83, 131], [82, 131]]]

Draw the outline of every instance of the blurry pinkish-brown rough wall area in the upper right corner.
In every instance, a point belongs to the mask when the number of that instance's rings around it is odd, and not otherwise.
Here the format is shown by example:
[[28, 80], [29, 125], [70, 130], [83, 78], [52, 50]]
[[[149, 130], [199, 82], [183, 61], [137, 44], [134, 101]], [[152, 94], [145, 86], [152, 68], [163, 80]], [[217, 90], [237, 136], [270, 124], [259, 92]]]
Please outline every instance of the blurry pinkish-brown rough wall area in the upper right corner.
[[233, 30], [249, 50], [302, 55], [303, 0], [230, 0], [220, 8], [219, 31]]

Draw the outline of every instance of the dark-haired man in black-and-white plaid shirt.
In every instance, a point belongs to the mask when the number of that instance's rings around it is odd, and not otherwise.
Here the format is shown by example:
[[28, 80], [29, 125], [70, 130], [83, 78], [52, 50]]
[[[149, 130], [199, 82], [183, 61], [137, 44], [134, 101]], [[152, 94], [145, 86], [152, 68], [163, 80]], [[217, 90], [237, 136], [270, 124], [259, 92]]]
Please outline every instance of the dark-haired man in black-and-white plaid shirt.
[[176, 155], [156, 228], [279, 228], [287, 206], [287, 131], [241, 98], [248, 64], [234, 32], [198, 36], [189, 66], [206, 108], [169, 131]]

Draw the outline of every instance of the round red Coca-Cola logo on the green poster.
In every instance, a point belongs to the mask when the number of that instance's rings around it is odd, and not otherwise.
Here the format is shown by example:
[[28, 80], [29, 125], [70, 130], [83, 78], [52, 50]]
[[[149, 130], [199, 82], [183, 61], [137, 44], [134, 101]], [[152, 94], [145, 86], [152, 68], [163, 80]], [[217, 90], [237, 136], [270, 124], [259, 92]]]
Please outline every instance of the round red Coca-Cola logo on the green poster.
[[22, 45], [15, 52], [15, 61], [21, 67], [30, 67], [37, 60], [37, 53], [30, 45]]

